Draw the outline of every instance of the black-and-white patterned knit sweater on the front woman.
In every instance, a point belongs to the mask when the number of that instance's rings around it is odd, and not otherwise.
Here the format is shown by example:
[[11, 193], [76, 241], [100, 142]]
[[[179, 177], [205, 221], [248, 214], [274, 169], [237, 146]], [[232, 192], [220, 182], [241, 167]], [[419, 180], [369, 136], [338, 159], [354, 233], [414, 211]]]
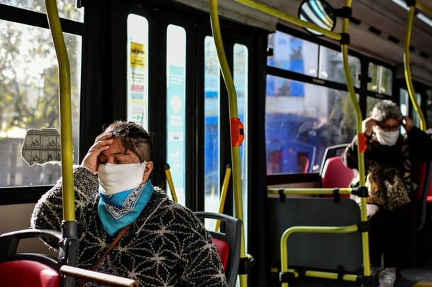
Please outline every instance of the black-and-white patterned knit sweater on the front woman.
[[[88, 269], [114, 238], [99, 220], [98, 177], [86, 167], [75, 166], [74, 183], [77, 266]], [[62, 214], [59, 180], [36, 204], [31, 227], [61, 231]], [[169, 200], [160, 188], [155, 188], [139, 218], [97, 271], [136, 279], [140, 286], [227, 286], [219, 255], [201, 221], [188, 208]]]

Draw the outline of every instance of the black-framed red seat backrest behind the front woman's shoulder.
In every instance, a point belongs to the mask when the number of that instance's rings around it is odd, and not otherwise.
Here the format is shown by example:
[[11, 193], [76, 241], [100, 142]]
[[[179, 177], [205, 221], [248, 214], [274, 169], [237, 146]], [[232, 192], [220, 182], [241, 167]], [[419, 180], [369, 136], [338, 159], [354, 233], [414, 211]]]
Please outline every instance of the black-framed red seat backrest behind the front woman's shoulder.
[[211, 213], [206, 211], [194, 212], [197, 218], [221, 220], [224, 232], [208, 232], [212, 236], [213, 244], [224, 265], [226, 280], [229, 287], [236, 286], [238, 265], [240, 263], [240, 239], [242, 222], [238, 218], [222, 213]]

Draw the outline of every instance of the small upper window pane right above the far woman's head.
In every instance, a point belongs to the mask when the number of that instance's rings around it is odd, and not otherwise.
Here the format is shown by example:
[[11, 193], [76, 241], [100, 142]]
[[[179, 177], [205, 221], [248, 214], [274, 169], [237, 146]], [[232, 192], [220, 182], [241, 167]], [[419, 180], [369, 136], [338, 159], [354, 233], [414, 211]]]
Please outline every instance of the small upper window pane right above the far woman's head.
[[383, 95], [392, 95], [392, 70], [381, 65], [369, 63], [368, 71], [371, 81], [367, 83], [367, 89]]

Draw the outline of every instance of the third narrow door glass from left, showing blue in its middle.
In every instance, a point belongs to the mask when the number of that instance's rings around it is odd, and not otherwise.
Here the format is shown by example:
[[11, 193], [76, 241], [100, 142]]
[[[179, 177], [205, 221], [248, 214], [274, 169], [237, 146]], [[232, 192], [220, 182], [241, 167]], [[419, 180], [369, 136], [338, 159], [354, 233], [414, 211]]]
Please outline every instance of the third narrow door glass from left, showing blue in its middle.
[[219, 210], [220, 155], [219, 155], [219, 60], [215, 41], [204, 40], [204, 189], [205, 210]]

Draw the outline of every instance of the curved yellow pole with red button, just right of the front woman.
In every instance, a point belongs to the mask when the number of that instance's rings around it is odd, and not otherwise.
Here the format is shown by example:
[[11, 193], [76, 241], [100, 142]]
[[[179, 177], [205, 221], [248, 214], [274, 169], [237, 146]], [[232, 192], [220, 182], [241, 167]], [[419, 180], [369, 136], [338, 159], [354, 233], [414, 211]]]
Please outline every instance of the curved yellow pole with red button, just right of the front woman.
[[[229, 116], [231, 120], [230, 133], [231, 133], [231, 161], [233, 171], [233, 191], [234, 191], [234, 206], [236, 208], [236, 217], [243, 222], [243, 204], [242, 204], [242, 182], [240, 172], [240, 144], [241, 142], [234, 142], [233, 138], [240, 136], [240, 131], [234, 131], [233, 129], [240, 129], [241, 123], [238, 120], [237, 111], [237, 94], [236, 88], [234, 87], [233, 76], [229, 69], [228, 62], [226, 60], [224, 44], [222, 43], [222, 35], [220, 33], [219, 26], [219, 12], [217, 8], [217, 0], [210, 0], [210, 22], [212, 26], [213, 39], [215, 40], [215, 46], [217, 51], [217, 57], [219, 59], [219, 65], [228, 90], [228, 101], [229, 101]], [[242, 128], [241, 128], [242, 129]], [[242, 133], [242, 131], [241, 131]], [[241, 229], [241, 243], [240, 243], [240, 259], [246, 258], [245, 251], [245, 232]], [[240, 287], [247, 286], [247, 274], [239, 274]]]

